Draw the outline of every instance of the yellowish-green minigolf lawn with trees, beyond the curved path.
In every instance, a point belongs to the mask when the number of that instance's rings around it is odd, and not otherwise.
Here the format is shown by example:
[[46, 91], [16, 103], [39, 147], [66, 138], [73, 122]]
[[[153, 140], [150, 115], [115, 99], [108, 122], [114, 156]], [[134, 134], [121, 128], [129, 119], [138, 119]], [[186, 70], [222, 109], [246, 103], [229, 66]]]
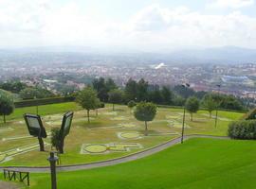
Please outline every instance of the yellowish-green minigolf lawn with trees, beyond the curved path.
[[[1, 152], [20, 146], [37, 143], [36, 138], [21, 138], [27, 136], [27, 127], [23, 121], [22, 115], [25, 112], [35, 112], [35, 107], [16, 109], [9, 116], [6, 125], [0, 124], [0, 154]], [[149, 122], [149, 135], [144, 136], [144, 123], [135, 119], [133, 114], [126, 106], [116, 106], [116, 111], [112, 111], [111, 105], [99, 110], [96, 116], [91, 111], [91, 123], [87, 123], [86, 112], [81, 110], [76, 103], [61, 103], [39, 107], [39, 113], [42, 115], [46, 131], [49, 132], [53, 127], [60, 128], [64, 112], [73, 111], [74, 119], [69, 135], [64, 142], [64, 155], [62, 155], [63, 164], [73, 163], [91, 163], [102, 160], [109, 160], [126, 156], [149, 147], [157, 146], [163, 142], [171, 140], [180, 134], [182, 126], [182, 109], [159, 108], [153, 122]], [[213, 113], [214, 114], [214, 113]], [[190, 114], [186, 114], [185, 134], [211, 134], [227, 135], [228, 125], [231, 120], [239, 119], [243, 113], [219, 112], [222, 120], [218, 120], [217, 128], [214, 128], [214, 119], [209, 118], [208, 112], [200, 111], [193, 115], [193, 121], [190, 120]], [[227, 121], [228, 120], [228, 121]], [[175, 124], [175, 125], [174, 125]], [[8, 131], [12, 129], [12, 131]], [[139, 137], [119, 137], [119, 133], [137, 133]], [[169, 133], [167, 135], [166, 133]], [[170, 133], [174, 133], [173, 135]], [[18, 140], [3, 140], [5, 138], [18, 138]], [[46, 143], [50, 144], [47, 138]], [[110, 152], [105, 154], [81, 154], [83, 144], [110, 144], [110, 143], [136, 143], [142, 148], [133, 148], [131, 151]], [[50, 150], [50, 146], [46, 146]], [[46, 165], [48, 154], [34, 150], [22, 155], [13, 157], [8, 162], [1, 162], [0, 165]], [[30, 160], [33, 161], [30, 161]]]

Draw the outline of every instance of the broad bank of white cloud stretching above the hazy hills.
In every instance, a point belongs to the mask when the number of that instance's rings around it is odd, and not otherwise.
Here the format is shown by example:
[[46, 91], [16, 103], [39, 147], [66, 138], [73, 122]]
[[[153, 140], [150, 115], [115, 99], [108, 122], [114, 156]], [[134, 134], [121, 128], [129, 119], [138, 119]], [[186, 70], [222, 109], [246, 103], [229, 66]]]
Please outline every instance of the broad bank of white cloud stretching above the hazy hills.
[[[51, 1], [9, 3], [0, 0], [0, 46], [119, 45], [140, 50], [184, 46], [237, 45], [256, 48], [256, 18], [233, 11], [208, 15], [179, 7], [152, 5], [127, 22], [97, 18], [76, 3], [54, 7]], [[234, 0], [235, 1], [235, 0]], [[13, 2], [13, 1], [12, 1]]]

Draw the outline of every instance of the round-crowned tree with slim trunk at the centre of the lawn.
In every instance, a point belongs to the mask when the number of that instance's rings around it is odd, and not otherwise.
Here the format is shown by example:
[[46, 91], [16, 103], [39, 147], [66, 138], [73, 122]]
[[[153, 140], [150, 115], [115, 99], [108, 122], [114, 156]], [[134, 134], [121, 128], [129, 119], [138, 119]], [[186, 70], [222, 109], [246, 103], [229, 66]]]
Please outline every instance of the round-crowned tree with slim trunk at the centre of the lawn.
[[135, 117], [138, 121], [145, 122], [145, 135], [148, 135], [148, 121], [155, 118], [156, 106], [151, 102], [139, 102], [135, 110]]

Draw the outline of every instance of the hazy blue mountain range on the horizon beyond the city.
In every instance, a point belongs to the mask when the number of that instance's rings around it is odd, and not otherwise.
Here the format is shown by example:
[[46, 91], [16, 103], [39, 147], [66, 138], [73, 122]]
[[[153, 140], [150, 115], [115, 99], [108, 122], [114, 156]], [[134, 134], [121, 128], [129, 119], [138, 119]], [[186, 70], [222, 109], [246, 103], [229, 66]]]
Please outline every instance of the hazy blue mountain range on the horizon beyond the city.
[[50, 62], [80, 63], [211, 63], [238, 64], [256, 63], [256, 49], [224, 46], [216, 48], [191, 48], [161, 53], [141, 52], [123, 48], [90, 48], [84, 46], [47, 46], [34, 48], [0, 49], [0, 62]]

